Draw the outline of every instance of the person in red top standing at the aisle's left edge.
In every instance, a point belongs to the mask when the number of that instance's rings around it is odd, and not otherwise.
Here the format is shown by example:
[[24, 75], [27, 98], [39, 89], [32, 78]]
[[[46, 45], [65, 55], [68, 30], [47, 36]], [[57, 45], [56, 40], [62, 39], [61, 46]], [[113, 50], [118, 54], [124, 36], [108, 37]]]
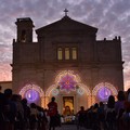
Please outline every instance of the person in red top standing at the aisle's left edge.
[[55, 102], [55, 98], [53, 96], [51, 102], [48, 104], [48, 115], [50, 116], [50, 126], [49, 126], [49, 130], [51, 130], [51, 128], [53, 130], [55, 130], [55, 127], [57, 126], [57, 103]]

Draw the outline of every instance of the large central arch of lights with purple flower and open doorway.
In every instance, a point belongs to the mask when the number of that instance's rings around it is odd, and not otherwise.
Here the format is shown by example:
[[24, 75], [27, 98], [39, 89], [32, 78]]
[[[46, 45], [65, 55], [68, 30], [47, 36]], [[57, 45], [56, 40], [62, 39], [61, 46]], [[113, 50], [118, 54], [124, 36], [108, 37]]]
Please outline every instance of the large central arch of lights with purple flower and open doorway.
[[52, 96], [56, 98], [61, 114], [66, 107], [69, 107], [72, 113], [77, 113], [80, 106], [88, 108], [91, 104], [89, 88], [81, 83], [80, 77], [72, 70], [60, 73], [55, 78], [55, 83], [47, 90], [46, 96], [49, 100]]

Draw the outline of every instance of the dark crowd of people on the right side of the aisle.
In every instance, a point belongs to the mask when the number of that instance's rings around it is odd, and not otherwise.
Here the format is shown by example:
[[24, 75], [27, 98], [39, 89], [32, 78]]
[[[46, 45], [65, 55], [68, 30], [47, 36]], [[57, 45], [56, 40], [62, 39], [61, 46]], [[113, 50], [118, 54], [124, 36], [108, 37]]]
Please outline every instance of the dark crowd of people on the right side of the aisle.
[[106, 104], [95, 103], [88, 109], [81, 106], [77, 117], [78, 129], [130, 130], [130, 89], [119, 91], [117, 98], [109, 95]]

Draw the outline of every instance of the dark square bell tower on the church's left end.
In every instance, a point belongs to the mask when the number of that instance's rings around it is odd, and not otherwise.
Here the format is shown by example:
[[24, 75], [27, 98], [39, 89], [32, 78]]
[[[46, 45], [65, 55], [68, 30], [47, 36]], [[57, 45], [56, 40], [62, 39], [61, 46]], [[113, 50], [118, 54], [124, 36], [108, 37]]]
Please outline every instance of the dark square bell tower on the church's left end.
[[32, 42], [32, 21], [29, 17], [17, 18], [17, 42]]

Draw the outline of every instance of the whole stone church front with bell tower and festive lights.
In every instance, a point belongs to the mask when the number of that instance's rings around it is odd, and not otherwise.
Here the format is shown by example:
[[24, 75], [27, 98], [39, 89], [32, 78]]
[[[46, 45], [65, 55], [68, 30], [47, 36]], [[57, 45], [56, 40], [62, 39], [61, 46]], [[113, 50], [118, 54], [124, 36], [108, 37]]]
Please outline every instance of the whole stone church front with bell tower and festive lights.
[[52, 96], [63, 114], [106, 102], [123, 90], [121, 39], [96, 40], [98, 28], [65, 15], [36, 30], [29, 17], [17, 18], [13, 40], [12, 88], [42, 107]]

